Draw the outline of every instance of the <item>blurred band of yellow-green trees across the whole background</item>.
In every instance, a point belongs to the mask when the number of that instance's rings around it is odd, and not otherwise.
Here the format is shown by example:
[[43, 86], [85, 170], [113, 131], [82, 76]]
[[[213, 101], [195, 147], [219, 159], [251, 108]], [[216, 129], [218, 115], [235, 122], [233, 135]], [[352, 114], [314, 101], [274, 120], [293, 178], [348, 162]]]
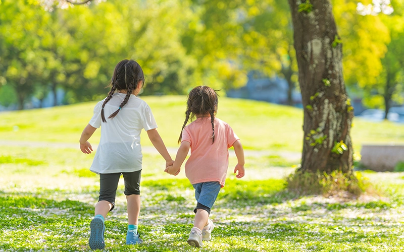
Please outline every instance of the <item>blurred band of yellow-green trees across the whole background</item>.
[[[349, 90], [388, 110], [402, 103], [404, 1], [371, 15], [373, 2], [361, 9], [358, 1], [332, 1]], [[122, 58], [143, 67], [144, 95], [228, 90], [245, 85], [250, 71], [284, 78], [290, 105], [298, 87], [286, 1], [3, 0], [0, 9], [3, 106], [18, 101], [21, 109], [48, 93], [56, 105], [57, 90], [64, 103], [102, 98]]]

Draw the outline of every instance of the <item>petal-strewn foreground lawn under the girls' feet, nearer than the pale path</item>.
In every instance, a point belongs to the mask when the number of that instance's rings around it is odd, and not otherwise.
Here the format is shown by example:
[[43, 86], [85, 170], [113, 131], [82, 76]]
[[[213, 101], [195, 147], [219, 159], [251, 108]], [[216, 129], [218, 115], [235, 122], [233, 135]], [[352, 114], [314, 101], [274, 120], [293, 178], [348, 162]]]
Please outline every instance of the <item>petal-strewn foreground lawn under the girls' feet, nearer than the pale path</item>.
[[[0, 154], [0, 251], [89, 251], [89, 223], [97, 201], [93, 155], [78, 149], [8, 147]], [[386, 192], [341, 201], [295, 197], [284, 191], [293, 171], [276, 156], [249, 157], [246, 176], [231, 174], [212, 210], [213, 239], [203, 249], [186, 243], [195, 206], [182, 171], [163, 172], [164, 160], [144, 155], [139, 232], [145, 241], [125, 244], [123, 181], [116, 209], [107, 216], [110, 251], [403, 251], [404, 173], [366, 176]]]

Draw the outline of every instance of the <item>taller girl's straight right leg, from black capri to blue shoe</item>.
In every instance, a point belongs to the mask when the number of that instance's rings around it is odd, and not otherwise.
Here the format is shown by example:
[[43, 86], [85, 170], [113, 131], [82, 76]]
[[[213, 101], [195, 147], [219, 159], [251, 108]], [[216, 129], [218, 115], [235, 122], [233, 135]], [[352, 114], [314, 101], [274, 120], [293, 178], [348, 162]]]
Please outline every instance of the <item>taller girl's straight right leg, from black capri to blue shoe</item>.
[[128, 232], [126, 233], [126, 244], [142, 243], [137, 232], [137, 224], [140, 214], [140, 171], [125, 172], [125, 191], [128, 211]]

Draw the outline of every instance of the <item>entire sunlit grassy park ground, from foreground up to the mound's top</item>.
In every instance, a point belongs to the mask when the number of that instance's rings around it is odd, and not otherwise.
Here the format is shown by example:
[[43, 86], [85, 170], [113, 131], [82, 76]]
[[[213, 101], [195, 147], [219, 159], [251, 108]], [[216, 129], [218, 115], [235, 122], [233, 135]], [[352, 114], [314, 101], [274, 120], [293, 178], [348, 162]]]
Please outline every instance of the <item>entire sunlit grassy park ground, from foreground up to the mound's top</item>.
[[[174, 150], [185, 97], [144, 99]], [[98, 178], [88, 170], [93, 154], [82, 154], [71, 144], [78, 141], [94, 105], [0, 114], [0, 251], [89, 250]], [[221, 98], [218, 117], [232, 125], [248, 155], [242, 179], [232, 174], [236, 158], [230, 156], [226, 186], [212, 210], [212, 241], [202, 249], [186, 243], [194, 217], [192, 186], [183, 171], [176, 177], [164, 173], [164, 160], [145, 151], [139, 220], [145, 242], [125, 245], [121, 181], [116, 209], [106, 220], [106, 250], [404, 251], [404, 173], [360, 171], [374, 193], [356, 199], [298, 196], [286, 190], [284, 178], [299, 163], [301, 110]], [[354, 123], [357, 154], [366, 142], [404, 142], [401, 125]], [[145, 137], [142, 144], [145, 150], [150, 146]]]

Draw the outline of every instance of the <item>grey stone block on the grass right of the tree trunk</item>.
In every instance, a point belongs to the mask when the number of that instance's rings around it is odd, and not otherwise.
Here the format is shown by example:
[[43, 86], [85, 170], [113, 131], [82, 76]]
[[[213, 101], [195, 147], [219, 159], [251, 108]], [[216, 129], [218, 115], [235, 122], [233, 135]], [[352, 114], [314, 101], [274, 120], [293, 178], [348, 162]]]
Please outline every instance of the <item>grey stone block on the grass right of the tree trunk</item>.
[[374, 171], [393, 171], [404, 162], [404, 145], [363, 145], [361, 163]]

